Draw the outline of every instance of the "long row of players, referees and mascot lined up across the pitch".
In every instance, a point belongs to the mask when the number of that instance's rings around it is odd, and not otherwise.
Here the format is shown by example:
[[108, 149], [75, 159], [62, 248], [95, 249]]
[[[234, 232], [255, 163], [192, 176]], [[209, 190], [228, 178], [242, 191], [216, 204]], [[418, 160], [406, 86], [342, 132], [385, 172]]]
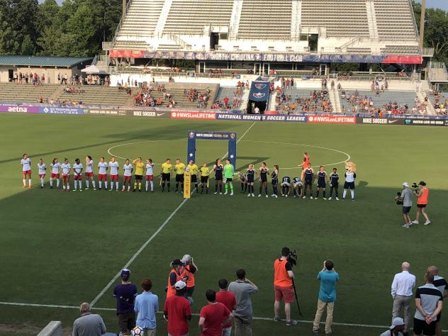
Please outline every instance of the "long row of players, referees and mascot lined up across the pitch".
[[[31, 160], [28, 155], [23, 155], [23, 159], [21, 159], [21, 164], [23, 168], [23, 188], [26, 188], [26, 177], [28, 177], [28, 188], [31, 187]], [[145, 191], [154, 191], [154, 166], [155, 164], [152, 162], [152, 159], [147, 159], [146, 162], [142, 162], [141, 158], [134, 159], [132, 164], [130, 163], [130, 159], [125, 160], [125, 164], [123, 165], [123, 187], [122, 191], [130, 191], [131, 189], [131, 179], [132, 174], [134, 174], [134, 185], [133, 191], [142, 191], [142, 180], [145, 179]], [[99, 190], [102, 189], [102, 183], [104, 183], [104, 189], [108, 189], [108, 180], [111, 184], [110, 191], [113, 191], [113, 186], [115, 182], [116, 191], [119, 190], [119, 181], [118, 181], [118, 170], [120, 169], [120, 165], [116, 161], [115, 157], [111, 157], [110, 162], [106, 162], [104, 157], [101, 157], [98, 165], [98, 182], [99, 182]], [[135, 167], [135, 169], [134, 169]], [[46, 173], [47, 166], [43, 162], [43, 159], [39, 160], [38, 163], [38, 171], [40, 177], [40, 188], [44, 187], [44, 179]], [[56, 186], [59, 188], [60, 186], [60, 176], [62, 175], [62, 188], [65, 191], [69, 191], [69, 179], [70, 175], [73, 171], [74, 176], [74, 189], [73, 191], [82, 191], [82, 179], [83, 172], [85, 174], [85, 183], [86, 189], [89, 189], [89, 182], [91, 182], [93, 189], [96, 190], [96, 181], [94, 180], [94, 161], [90, 156], [86, 157], [86, 169], [84, 171], [84, 166], [80, 162], [79, 159], [75, 159], [74, 164], [70, 164], [68, 159], [65, 159], [63, 163], [60, 163], [57, 158], [52, 160], [50, 164], [51, 175], [50, 175], [50, 189], [53, 187], [53, 181], [56, 181]], [[109, 171], [109, 178], [107, 177], [107, 171]], [[215, 161], [213, 168], [208, 168], [206, 162], [203, 163], [203, 166], [199, 168], [192, 160], [188, 165], [185, 165], [181, 162], [180, 159], [176, 160], [176, 164], [171, 164], [171, 160], [167, 159], [166, 162], [162, 164], [162, 170], [160, 173], [160, 185], [162, 186], [162, 192], [167, 186], [167, 191], [170, 191], [171, 187], [171, 177], [175, 172], [175, 181], [176, 181], [176, 192], [179, 191], [179, 186], [181, 192], [184, 189], [184, 172], [189, 171], [191, 173], [191, 183], [194, 184], [196, 191], [199, 192], [198, 186], [198, 177], [200, 177], [201, 181], [201, 194], [205, 189], [206, 194], [208, 194], [208, 179], [210, 174], [214, 172], [215, 176], [215, 194], [223, 194], [223, 183], [225, 184], [225, 193], [228, 194], [228, 189], [230, 189], [230, 195], [233, 195], [233, 177], [235, 174], [235, 168], [233, 164], [230, 163], [230, 160], [227, 159], [225, 164], [221, 162], [220, 159]], [[239, 174], [240, 182], [241, 182], [241, 191], [242, 193], [247, 194], [247, 196], [254, 197], [254, 181], [255, 177], [259, 181], [259, 194], [258, 196], [262, 196], [262, 191], [265, 193], [265, 197], [268, 197], [268, 176], [269, 176], [269, 168], [267, 167], [265, 162], [262, 162], [261, 167], [258, 169], [254, 168], [254, 164], [250, 164], [249, 167]], [[310, 163], [307, 164], [305, 169], [301, 174], [301, 177], [294, 177], [291, 180], [291, 177], [283, 177], [281, 183], [279, 183], [279, 166], [275, 165], [271, 174], [271, 186], [273, 190], [273, 194], [271, 196], [278, 197], [279, 190], [278, 186], [281, 187], [281, 196], [288, 197], [293, 192], [293, 197], [303, 197], [306, 198], [307, 191], [310, 192], [310, 198], [313, 198], [313, 181], [315, 178], [317, 179], [317, 192], [315, 194], [315, 198], [319, 197], [320, 191], [323, 191], [323, 198], [326, 198], [326, 186], [327, 182], [330, 184], [330, 200], [332, 199], [333, 191], [335, 192], [336, 199], [339, 200], [339, 174], [337, 173], [337, 169], [333, 168], [332, 173], [327, 175], [323, 166], [320, 166], [317, 174], [314, 174], [314, 170], [311, 167]], [[328, 179], [328, 181], [327, 181]], [[345, 184], [344, 184], [344, 193], [343, 198], [345, 198], [347, 191], [350, 190], [352, 200], [354, 199], [354, 179], [356, 179], [356, 173], [354, 172], [345, 172]]]

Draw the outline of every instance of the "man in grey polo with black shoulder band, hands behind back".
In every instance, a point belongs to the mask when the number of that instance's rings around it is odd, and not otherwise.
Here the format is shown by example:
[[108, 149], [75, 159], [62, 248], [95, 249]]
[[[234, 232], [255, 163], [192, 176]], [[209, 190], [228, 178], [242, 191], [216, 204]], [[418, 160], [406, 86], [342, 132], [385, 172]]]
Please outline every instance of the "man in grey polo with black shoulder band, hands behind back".
[[435, 335], [437, 315], [442, 312], [442, 293], [433, 282], [434, 275], [425, 274], [425, 285], [415, 292], [414, 335]]

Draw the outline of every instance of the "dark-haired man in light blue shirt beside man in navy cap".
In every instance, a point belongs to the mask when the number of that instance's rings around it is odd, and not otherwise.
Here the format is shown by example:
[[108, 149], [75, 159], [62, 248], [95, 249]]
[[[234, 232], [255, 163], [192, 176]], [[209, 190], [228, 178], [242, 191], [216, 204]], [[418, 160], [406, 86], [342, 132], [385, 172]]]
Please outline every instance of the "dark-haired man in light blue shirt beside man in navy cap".
[[137, 313], [137, 326], [147, 330], [147, 336], [155, 336], [155, 313], [159, 310], [159, 298], [151, 293], [152, 281], [143, 279], [143, 293], [135, 298], [134, 310]]

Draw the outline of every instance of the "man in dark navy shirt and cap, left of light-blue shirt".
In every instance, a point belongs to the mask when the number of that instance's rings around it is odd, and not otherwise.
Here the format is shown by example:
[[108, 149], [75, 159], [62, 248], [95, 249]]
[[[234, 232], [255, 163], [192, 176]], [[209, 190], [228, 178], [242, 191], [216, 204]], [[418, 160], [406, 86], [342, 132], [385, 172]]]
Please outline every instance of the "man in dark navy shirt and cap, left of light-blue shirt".
[[123, 335], [135, 327], [134, 301], [137, 296], [137, 286], [129, 281], [130, 270], [121, 270], [121, 284], [113, 289], [113, 297], [117, 300], [118, 327]]

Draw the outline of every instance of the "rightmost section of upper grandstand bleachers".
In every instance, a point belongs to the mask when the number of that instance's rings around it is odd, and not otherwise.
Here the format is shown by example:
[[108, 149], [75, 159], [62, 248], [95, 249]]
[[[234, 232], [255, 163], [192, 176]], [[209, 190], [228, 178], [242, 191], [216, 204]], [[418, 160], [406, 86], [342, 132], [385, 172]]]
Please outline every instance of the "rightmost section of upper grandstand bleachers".
[[382, 40], [415, 40], [413, 10], [409, 0], [374, 0], [376, 26]]

